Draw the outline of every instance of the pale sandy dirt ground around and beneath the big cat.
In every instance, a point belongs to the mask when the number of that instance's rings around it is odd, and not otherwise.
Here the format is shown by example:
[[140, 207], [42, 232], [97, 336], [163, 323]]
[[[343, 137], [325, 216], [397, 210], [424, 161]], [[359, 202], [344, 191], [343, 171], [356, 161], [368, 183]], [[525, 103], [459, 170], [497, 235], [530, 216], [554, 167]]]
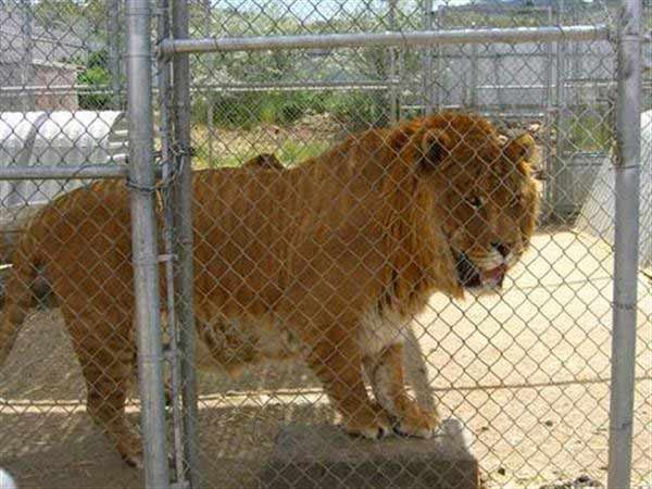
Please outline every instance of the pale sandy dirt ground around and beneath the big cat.
[[[434, 297], [415, 330], [440, 413], [473, 434], [488, 487], [586, 475], [605, 484], [613, 255], [573, 233], [542, 233], [501, 297]], [[652, 293], [639, 280], [634, 482], [652, 486]], [[0, 466], [26, 488], [142, 487], [92, 425], [58, 311], [35, 312], [0, 371]], [[299, 365], [239, 379], [201, 375], [202, 487], [254, 488], [284, 423], [334, 421]], [[137, 405], [128, 408], [138, 422]], [[647, 485], [647, 486], [644, 486]], [[562, 487], [562, 486], [559, 486]]]

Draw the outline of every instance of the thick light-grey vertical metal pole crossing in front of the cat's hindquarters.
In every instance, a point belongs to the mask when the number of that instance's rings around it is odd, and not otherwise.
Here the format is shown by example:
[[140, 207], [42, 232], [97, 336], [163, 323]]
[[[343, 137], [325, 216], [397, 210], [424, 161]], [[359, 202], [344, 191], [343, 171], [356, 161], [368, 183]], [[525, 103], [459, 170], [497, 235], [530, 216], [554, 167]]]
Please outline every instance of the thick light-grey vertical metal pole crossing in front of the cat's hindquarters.
[[168, 488], [165, 402], [154, 206], [153, 114], [149, 0], [127, 0], [127, 110], [131, 188], [131, 254], [147, 488]]

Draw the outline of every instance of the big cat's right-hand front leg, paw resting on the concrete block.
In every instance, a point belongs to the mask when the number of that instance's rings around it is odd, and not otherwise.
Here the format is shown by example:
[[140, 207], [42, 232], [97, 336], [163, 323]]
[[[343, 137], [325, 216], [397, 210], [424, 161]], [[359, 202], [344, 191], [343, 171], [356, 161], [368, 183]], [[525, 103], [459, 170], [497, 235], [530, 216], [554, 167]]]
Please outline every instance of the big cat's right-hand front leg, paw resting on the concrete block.
[[398, 421], [401, 435], [430, 438], [439, 425], [437, 410], [419, 408], [403, 380], [403, 344], [393, 343], [364, 359], [364, 366], [380, 405]]

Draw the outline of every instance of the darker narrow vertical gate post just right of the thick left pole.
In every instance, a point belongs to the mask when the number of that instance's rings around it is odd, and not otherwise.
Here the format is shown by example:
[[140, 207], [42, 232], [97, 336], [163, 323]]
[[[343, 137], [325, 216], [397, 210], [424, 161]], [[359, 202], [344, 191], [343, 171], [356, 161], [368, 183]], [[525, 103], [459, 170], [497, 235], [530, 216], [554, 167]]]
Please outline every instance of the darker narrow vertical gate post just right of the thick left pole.
[[[174, 0], [172, 9], [175, 40], [188, 38], [188, 0]], [[177, 275], [179, 348], [181, 358], [181, 397], [184, 401], [184, 434], [186, 480], [191, 489], [199, 488], [197, 438], [197, 378], [195, 373], [196, 338], [193, 269], [192, 269], [192, 167], [190, 160], [190, 62], [180, 55], [173, 63], [174, 130], [178, 155], [175, 180], [175, 228], [177, 234]]]

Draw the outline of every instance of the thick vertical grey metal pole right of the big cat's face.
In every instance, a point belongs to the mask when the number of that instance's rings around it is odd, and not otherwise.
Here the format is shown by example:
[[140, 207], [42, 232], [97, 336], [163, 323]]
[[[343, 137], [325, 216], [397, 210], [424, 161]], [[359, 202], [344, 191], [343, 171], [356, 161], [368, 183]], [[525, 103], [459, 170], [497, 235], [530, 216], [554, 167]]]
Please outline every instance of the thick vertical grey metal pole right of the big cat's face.
[[628, 489], [631, 477], [641, 161], [641, 0], [622, 0], [618, 22], [609, 489]]

